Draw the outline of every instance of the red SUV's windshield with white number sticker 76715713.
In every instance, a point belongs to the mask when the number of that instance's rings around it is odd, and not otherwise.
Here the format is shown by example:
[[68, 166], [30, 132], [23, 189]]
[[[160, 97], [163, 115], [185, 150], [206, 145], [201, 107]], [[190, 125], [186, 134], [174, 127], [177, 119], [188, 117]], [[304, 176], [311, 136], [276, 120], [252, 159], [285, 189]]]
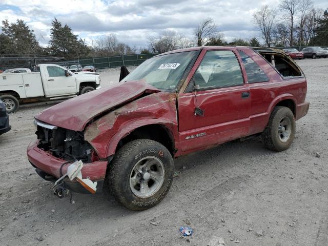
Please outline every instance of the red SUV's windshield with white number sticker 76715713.
[[122, 80], [142, 80], [157, 89], [174, 90], [196, 53], [188, 51], [153, 57]]

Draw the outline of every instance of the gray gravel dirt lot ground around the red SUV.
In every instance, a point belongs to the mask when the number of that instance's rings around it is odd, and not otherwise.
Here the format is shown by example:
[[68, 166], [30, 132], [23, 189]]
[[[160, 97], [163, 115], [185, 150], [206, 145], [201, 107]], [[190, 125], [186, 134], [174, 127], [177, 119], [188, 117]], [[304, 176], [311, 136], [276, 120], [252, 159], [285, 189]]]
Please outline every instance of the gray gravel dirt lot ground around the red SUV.
[[[298, 63], [311, 106], [289, 150], [255, 138], [176, 159], [181, 174], [168, 196], [144, 212], [108, 193], [74, 194], [75, 204], [55, 197], [26, 157], [33, 115], [49, 105], [11, 114], [12, 130], [0, 136], [0, 245], [208, 245], [213, 235], [226, 245], [327, 245], [328, 59]], [[101, 74], [103, 85], [119, 76]], [[189, 222], [194, 234], [183, 238]]]

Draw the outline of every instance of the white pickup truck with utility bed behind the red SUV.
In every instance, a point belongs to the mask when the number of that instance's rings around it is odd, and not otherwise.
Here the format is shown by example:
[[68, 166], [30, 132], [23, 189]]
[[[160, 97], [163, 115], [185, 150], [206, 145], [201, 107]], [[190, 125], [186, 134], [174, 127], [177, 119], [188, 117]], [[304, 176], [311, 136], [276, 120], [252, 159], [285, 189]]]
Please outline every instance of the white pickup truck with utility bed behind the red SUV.
[[100, 87], [98, 73], [73, 73], [54, 64], [40, 64], [37, 69], [39, 72], [0, 74], [0, 99], [8, 113], [17, 111], [19, 102], [71, 97]]

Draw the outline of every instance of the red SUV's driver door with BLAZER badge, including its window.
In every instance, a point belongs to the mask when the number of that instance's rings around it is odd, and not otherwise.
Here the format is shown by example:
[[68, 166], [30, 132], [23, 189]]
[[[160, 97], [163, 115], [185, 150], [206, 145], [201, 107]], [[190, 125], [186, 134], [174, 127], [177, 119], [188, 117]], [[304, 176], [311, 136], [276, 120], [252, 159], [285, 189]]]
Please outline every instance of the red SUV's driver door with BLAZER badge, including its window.
[[[187, 89], [178, 96], [181, 152], [248, 135], [251, 94], [236, 54], [233, 50], [202, 51]], [[203, 115], [196, 113], [196, 108]]]

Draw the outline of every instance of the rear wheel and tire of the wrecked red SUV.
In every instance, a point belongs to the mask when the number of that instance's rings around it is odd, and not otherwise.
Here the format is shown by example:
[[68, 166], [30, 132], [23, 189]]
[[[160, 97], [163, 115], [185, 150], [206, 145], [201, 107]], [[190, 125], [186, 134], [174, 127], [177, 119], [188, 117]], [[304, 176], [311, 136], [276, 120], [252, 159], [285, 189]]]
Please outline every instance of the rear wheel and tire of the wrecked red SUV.
[[265, 147], [273, 151], [288, 149], [295, 137], [295, 117], [287, 107], [275, 107], [262, 138]]

